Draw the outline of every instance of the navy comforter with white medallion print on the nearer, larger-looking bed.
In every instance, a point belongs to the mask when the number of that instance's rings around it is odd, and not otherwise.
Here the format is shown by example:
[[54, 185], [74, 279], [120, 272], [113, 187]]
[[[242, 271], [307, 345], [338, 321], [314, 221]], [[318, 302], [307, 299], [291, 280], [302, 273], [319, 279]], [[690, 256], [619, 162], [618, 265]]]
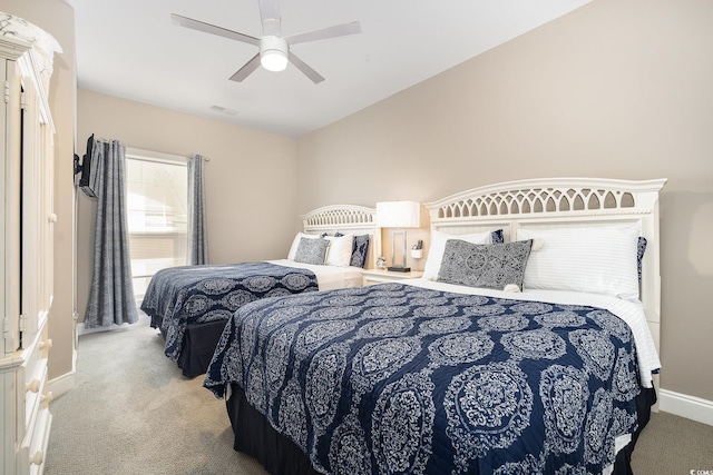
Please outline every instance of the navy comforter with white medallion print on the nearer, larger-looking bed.
[[237, 383], [326, 474], [586, 474], [637, 427], [607, 310], [402, 284], [248, 304], [204, 386]]

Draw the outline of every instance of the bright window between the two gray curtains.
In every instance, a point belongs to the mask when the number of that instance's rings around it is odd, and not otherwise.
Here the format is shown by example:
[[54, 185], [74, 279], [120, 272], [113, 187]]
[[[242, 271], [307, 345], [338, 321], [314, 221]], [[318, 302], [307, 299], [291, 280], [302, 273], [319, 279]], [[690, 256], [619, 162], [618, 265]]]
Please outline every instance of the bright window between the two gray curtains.
[[138, 299], [156, 271], [186, 264], [187, 180], [184, 157], [126, 149], [127, 220]]

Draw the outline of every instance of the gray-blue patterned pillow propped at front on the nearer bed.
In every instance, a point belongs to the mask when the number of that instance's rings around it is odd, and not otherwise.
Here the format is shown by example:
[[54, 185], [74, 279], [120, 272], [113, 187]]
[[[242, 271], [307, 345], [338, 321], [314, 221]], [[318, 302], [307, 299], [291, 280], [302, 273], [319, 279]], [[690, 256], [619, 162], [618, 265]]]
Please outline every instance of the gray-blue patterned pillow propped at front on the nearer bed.
[[438, 281], [499, 290], [515, 284], [521, 289], [531, 247], [531, 239], [507, 244], [448, 239]]

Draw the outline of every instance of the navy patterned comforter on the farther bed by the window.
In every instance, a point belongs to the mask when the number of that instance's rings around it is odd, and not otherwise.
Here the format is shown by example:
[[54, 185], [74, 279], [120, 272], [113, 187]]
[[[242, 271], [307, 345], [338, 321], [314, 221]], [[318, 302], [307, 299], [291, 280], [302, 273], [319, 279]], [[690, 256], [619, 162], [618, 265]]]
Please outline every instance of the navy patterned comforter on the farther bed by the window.
[[189, 324], [227, 320], [243, 305], [265, 297], [319, 290], [313, 271], [271, 263], [179, 266], [154, 275], [141, 310], [159, 317], [164, 353], [174, 362]]

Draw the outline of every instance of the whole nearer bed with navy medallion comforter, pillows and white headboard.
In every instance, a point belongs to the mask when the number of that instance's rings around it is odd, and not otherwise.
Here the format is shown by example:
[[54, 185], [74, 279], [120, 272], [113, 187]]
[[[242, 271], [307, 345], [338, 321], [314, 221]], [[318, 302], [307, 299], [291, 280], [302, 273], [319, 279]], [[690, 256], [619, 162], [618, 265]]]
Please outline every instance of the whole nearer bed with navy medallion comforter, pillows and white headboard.
[[244, 306], [204, 382], [234, 448], [271, 474], [631, 473], [661, 367], [664, 182], [465, 191], [427, 205], [448, 236], [427, 278]]

